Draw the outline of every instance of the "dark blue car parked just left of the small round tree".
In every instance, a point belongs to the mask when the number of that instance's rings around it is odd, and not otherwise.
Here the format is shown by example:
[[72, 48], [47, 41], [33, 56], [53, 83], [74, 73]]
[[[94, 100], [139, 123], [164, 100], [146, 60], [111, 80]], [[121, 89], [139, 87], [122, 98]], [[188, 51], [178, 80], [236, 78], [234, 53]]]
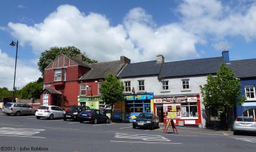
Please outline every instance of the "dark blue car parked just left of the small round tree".
[[86, 109], [78, 115], [80, 123], [90, 121], [91, 123], [105, 122], [109, 123], [109, 117], [98, 109]]

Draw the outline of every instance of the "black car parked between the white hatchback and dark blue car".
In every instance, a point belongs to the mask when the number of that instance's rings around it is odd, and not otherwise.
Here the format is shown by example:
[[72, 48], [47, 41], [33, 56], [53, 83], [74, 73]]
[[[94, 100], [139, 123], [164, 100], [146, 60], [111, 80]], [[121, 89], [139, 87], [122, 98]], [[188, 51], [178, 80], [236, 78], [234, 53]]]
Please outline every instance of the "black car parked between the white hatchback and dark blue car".
[[84, 111], [86, 109], [90, 109], [88, 106], [72, 106], [66, 111], [66, 113], [63, 116], [63, 120], [78, 120], [78, 114], [81, 113], [81, 111]]

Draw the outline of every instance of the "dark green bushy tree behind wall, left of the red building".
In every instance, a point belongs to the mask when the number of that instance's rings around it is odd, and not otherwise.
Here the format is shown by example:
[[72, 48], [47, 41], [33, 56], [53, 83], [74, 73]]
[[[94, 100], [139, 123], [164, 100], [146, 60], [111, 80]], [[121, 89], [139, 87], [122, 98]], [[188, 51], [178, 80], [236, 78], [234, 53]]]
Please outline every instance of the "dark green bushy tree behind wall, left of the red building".
[[40, 99], [40, 95], [42, 92], [43, 83], [40, 82], [30, 82], [24, 88], [20, 90], [21, 99]]

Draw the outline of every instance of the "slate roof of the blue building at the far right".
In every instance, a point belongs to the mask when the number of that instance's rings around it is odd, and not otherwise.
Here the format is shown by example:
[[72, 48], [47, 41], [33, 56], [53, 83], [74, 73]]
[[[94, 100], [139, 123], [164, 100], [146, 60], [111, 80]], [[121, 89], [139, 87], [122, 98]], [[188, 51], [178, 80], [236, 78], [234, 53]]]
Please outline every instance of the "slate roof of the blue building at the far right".
[[233, 69], [236, 78], [256, 77], [256, 59], [234, 60], [228, 66]]

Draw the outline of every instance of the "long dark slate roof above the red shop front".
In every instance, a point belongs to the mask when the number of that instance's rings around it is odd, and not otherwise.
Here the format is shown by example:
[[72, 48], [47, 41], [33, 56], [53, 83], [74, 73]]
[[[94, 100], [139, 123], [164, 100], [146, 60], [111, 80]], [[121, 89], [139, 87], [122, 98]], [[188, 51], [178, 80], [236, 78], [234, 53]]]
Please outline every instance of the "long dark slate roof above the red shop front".
[[159, 77], [216, 74], [223, 62], [223, 57], [165, 62]]

